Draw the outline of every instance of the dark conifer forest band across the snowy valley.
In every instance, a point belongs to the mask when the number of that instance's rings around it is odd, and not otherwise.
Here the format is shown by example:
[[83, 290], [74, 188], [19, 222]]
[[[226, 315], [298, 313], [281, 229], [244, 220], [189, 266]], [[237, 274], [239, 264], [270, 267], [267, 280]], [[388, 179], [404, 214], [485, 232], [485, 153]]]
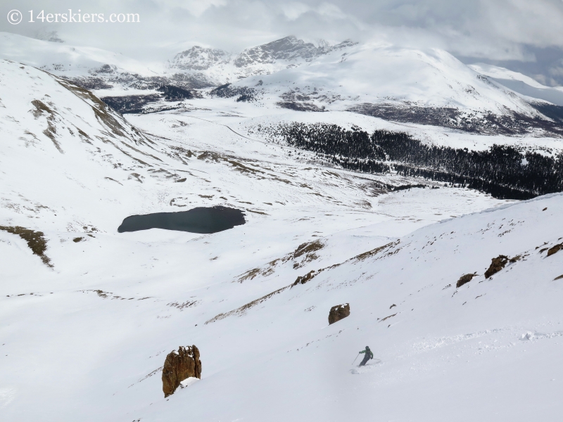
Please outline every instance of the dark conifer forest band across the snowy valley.
[[563, 155], [555, 157], [512, 146], [485, 151], [426, 145], [405, 132], [372, 134], [336, 124], [279, 125], [270, 132], [289, 146], [312, 151], [348, 170], [423, 177], [489, 193], [500, 199], [529, 199], [563, 191]]

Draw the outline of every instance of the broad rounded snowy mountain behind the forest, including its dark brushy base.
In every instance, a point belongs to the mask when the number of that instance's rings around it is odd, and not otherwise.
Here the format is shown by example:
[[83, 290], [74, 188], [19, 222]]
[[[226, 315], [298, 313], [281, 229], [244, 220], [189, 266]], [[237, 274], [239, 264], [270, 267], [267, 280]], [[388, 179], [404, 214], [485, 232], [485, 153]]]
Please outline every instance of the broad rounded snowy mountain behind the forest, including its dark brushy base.
[[399, 121], [402, 114], [417, 110], [412, 122], [437, 126], [478, 129], [488, 115], [540, 117], [523, 98], [439, 50], [358, 45], [306, 66], [248, 77], [235, 85], [256, 87], [262, 96], [275, 96], [278, 105], [286, 108], [352, 110]]

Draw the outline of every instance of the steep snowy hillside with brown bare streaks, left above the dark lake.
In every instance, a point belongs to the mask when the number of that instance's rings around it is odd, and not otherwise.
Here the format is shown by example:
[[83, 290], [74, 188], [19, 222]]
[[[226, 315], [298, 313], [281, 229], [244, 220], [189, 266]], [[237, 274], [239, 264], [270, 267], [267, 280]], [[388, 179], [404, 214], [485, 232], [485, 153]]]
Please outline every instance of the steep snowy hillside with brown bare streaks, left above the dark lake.
[[152, 141], [86, 89], [8, 60], [0, 75], [5, 223], [89, 231], [101, 198], [110, 209], [121, 186], [161, 162]]

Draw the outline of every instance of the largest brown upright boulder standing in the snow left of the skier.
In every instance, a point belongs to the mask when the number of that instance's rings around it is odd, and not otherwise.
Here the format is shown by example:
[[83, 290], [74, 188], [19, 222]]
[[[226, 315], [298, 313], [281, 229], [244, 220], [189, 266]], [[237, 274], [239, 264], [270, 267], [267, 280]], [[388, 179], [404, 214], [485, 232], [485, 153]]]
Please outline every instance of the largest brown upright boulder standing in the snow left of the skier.
[[164, 361], [163, 392], [168, 397], [186, 378], [201, 378], [201, 360], [196, 346], [180, 346], [172, 350]]

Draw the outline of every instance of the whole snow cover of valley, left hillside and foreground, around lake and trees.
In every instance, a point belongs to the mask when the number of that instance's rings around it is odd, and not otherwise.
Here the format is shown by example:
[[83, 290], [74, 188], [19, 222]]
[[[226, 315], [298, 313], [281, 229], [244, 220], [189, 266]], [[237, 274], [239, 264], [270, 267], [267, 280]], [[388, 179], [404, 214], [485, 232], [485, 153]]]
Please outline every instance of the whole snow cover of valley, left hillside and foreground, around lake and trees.
[[[2, 420], [559, 420], [563, 252], [547, 255], [563, 196], [349, 172], [255, 133], [299, 120], [409, 127], [233, 98], [125, 118], [0, 61]], [[458, 147], [514, 141], [450, 132]], [[129, 215], [213, 205], [246, 224], [117, 232]], [[15, 227], [42, 233], [49, 264]], [[486, 279], [499, 255], [512, 261]], [[198, 347], [202, 378], [165, 399], [179, 345]], [[357, 368], [365, 345], [379, 361]]]

